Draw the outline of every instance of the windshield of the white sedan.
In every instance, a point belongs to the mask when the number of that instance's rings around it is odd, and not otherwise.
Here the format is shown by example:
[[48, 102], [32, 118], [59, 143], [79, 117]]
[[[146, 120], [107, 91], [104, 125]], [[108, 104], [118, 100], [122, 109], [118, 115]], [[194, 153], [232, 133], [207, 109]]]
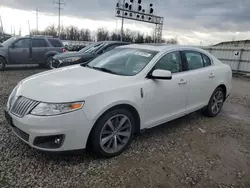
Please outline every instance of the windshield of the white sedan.
[[85, 66], [117, 75], [134, 76], [141, 72], [156, 54], [156, 51], [151, 50], [117, 48]]

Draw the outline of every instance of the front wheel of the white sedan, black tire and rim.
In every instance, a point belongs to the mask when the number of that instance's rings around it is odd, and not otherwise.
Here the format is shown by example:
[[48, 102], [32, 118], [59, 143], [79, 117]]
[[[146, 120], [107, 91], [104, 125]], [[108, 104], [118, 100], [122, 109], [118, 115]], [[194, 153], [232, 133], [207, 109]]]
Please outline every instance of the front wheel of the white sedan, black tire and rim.
[[91, 132], [92, 151], [101, 157], [114, 157], [131, 143], [135, 119], [126, 109], [113, 109], [99, 118]]

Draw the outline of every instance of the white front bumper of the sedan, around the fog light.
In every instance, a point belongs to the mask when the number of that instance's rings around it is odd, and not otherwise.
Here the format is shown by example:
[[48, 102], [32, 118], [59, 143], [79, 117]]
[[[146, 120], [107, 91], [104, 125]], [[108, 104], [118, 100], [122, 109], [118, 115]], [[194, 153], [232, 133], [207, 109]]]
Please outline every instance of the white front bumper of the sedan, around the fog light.
[[[9, 112], [5, 116], [13, 132], [31, 147], [43, 151], [68, 151], [85, 149], [92, 122], [87, 120], [82, 110], [58, 116], [26, 115], [19, 118]], [[37, 146], [38, 138], [63, 136], [60, 147]]]

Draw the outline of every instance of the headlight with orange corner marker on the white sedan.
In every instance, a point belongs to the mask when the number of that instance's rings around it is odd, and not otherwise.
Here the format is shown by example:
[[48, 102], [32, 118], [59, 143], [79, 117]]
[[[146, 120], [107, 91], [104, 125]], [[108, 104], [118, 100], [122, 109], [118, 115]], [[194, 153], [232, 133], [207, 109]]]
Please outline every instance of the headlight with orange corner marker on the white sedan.
[[32, 111], [31, 114], [37, 116], [53, 116], [59, 114], [65, 114], [75, 110], [79, 110], [83, 107], [84, 102], [73, 103], [40, 103]]

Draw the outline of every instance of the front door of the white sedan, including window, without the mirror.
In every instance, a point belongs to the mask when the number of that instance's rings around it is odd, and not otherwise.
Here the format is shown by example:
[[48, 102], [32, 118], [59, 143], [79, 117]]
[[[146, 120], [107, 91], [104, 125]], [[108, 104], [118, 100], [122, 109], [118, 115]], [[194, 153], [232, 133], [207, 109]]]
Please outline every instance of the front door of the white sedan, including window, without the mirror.
[[153, 70], [162, 69], [172, 72], [171, 80], [146, 80], [146, 127], [159, 125], [185, 115], [189, 76], [185, 72], [179, 51], [163, 55]]

